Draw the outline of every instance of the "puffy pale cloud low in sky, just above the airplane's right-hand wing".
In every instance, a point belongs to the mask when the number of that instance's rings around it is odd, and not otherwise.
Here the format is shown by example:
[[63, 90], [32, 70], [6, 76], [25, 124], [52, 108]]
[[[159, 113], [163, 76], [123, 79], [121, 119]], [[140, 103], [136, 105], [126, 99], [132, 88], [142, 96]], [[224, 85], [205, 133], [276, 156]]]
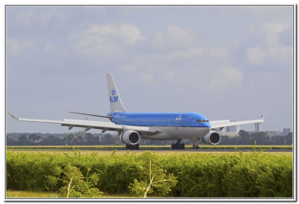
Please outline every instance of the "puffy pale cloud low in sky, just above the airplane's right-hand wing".
[[234, 67], [221, 66], [208, 86], [208, 90], [215, 92], [229, 90], [230, 87], [238, 85], [242, 79], [240, 70]]

